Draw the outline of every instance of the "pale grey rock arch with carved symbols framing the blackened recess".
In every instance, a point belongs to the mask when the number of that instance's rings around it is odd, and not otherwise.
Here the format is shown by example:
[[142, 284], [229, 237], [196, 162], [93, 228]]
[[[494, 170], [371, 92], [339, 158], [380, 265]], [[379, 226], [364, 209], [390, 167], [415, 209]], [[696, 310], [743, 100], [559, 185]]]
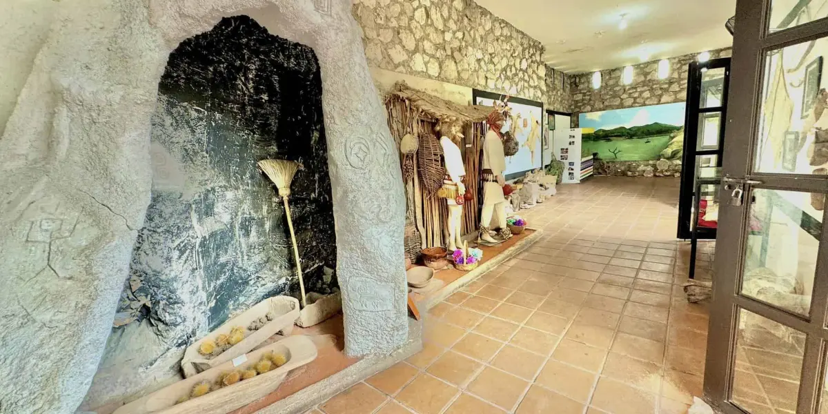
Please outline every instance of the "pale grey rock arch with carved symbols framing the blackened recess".
[[54, 6], [0, 137], [0, 378], [18, 378], [0, 387], [0, 411], [79, 406], [151, 201], [150, 121], [167, 56], [242, 12], [319, 59], [345, 351], [388, 353], [405, 342], [402, 173], [351, 2]]

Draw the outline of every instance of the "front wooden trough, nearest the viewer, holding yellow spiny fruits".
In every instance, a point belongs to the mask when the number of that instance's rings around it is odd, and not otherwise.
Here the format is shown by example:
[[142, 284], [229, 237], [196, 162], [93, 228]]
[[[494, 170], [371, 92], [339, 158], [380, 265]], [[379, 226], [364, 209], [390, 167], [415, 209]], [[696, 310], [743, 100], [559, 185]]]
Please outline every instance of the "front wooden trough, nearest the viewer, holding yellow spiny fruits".
[[[229, 387], [219, 388], [201, 397], [190, 398], [176, 404], [179, 398], [190, 395], [196, 384], [207, 382], [214, 384], [222, 373], [233, 370], [253, 368], [262, 359], [262, 355], [275, 352], [285, 355], [287, 362], [270, 372], [234, 383]], [[113, 414], [224, 414], [249, 402], [258, 400], [276, 391], [291, 369], [299, 368], [316, 359], [316, 346], [307, 336], [296, 335], [282, 339], [274, 344], [258, 349], [243, 357], [222, 363], [203, 373], [183, 379], [166, 388], [161, 388], [145, 397], [139, 398], [119, 407]]]

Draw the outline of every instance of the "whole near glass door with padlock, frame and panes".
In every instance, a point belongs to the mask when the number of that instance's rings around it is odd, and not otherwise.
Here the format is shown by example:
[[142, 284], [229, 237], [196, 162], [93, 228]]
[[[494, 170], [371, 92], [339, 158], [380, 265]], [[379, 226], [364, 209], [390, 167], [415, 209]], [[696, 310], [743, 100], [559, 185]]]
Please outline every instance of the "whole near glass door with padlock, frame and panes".
[[705, 365], [726, 414], [828, 414], [826, 16], [737, 2]]

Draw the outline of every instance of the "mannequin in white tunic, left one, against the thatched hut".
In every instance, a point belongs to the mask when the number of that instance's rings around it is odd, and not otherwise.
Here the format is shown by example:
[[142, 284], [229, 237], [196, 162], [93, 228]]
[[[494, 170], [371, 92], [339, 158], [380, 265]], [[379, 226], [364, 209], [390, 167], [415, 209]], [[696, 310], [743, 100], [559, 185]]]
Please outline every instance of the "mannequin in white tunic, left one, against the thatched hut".
[[449, 252], [454, 252], [458, 246], [463, 245], [463, 205], [457, 203], [458, 198], [463, 200], [465, 195], [465, 166], [463, 165], [463, 154], [458, 147], [463, 142], [463, 124], [456, 118], [440, 120], [435, 128], [440, 132], [440, 146], [443, 147], [443, 160], [445, 162], [445, 179], [443, 188], [445, 190], [445, 203], [449, 206], [449, 216], [445, 228], [447, 240], [445, 246]]

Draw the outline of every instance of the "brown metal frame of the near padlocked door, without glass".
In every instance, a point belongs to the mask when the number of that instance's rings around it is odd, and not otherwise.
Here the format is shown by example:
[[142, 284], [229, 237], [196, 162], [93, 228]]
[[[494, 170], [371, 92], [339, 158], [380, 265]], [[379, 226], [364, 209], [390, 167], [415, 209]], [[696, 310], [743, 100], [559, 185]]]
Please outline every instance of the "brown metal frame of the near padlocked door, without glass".
[[[828, 19], [768, 33], [772, 0], [738, 0], [734, 36], [733, 74], [729, 90], [728, 129], [724, 142], [724, 176], [744, 182], [746, 200], [754, 189], [828, 192], [828, 177], [802, 174], [768, 174], [753, 171], [758, 148], [758, 133], [765, 58], [768, 51], [828, 36]], [[757, 184], [751, 181], [760, 181]], [[722, 185], [724, 189], [724, 185]], [[721, 200], [728, 200], [729, 193]], [[819, 397], [825, 378], [826, 310], [828, 310], [828, 234], [823, 226], [811, 298], [811, 315], [802, 317], [779, 310], [761, 301], [739, 295], [744, 270], [746, 230], [750, 203], [720, 208], [720, 227], [716, 243], [716, 279], [710, 306], [710, 328], [705, 367], [705, 400], [725, 414], [744, 414], [730, 399], [730, 374], [734, 366], [734, 349], [738, 310], [744, 309], [807, 335], [800, 378], [797, 414], [819, 410]], [[823, 211], [826, 223], [828, 209]], [[828, 403], [828, 402], [823, 402]]]

